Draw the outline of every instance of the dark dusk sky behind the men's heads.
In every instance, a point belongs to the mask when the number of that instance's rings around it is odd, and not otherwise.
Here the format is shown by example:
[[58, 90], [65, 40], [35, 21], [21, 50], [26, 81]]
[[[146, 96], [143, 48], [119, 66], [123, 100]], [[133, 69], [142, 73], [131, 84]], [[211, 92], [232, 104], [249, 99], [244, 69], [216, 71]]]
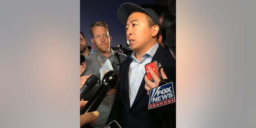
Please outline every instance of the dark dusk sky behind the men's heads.
[[108, 24], [112, 36], [111, 47], [116, 47], [118, 44], [126, 45], [125, 25], [117, 18], [117, 10], [125, 2], [138, 6], [156, 3], [155, 0], [80, 0], [80, 31], [84, 33], [88, 45], [94, 46], [89, 28], [96, 21]]

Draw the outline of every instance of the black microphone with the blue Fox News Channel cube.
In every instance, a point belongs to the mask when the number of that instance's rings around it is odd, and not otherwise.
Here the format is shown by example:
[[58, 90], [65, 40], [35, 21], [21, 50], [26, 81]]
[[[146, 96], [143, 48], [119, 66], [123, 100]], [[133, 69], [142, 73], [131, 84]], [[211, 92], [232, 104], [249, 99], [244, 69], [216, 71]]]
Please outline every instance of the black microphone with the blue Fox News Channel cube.
[[162, 122], [162, 128], [176, 128], [176, 84], [163, 79], [150, 89], [148, 112]]

